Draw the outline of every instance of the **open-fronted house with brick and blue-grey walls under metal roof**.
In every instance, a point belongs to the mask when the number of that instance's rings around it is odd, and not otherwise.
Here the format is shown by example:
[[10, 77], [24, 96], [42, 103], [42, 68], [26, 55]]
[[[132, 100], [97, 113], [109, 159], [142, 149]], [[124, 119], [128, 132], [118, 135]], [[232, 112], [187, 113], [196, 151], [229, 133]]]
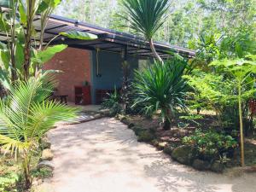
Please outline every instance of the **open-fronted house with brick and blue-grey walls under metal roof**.
[[[40, 32], [39, 16], [33, 24], [35, 30]], [[97, 35], [98, 38], [84, 41], [59, 36], [60, 32], [69, 31], [89, 32]], [[108, 90], [113, 90], [114, 86], [121, 87], [123, 61], [128, 61], [130, 64], [132, 78], [134, 69], [143, 67], [145, 61], [153, 58], [148, 43], [141, 37], [56, 15], [49, 17], [45, 28], [44, 43], [49, 42], [68, 45], [67, 49], [56, 54], [44, 65], [45, 70], [61, 70], [61, 73], [56, 75], [59, 81], [56, 90], [58, 95], [67, 96], [68, 102], [79, 103], [76, 101], [75, 86], [78, 88], [77, 96], [82, 96], [81, 87], [85, 84], [89, 84], [90, 87], [84, 86], [87, 88], [87, 101], [84, 103], [101, 102], [102, 96]], [[168, 54], [170, 51], [188, 58], [195, 56], [193, 50], [169, 44], [155, 43], [155, 48], [162, 58], [171, 57], [172, 55]]]

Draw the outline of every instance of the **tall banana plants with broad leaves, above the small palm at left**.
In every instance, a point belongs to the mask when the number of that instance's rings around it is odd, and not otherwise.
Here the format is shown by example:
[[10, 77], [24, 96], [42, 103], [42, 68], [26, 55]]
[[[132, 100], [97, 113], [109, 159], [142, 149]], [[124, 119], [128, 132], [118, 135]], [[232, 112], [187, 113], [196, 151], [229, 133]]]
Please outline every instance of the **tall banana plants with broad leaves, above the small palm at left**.
[[[0, 10], [1, 32], [9, 37], [7, 44], [1, 44], [1, 79], [5, 84], [26, 80], [38, 74], [45, 61], [55, 53], [66, 49], [66, 45], [44, 46], [44, 29], [48, 16], [60, 3], [50, 1], [9, 1], [9, 11]], [[33, 20], [41, 15], [41, 29], [38, 34]], [[44, 52], [48, 55], [45, 58]], [[43, 53], [42, 53], [43, 52]], [[8, 86], [5, 86], [8, 89]]]

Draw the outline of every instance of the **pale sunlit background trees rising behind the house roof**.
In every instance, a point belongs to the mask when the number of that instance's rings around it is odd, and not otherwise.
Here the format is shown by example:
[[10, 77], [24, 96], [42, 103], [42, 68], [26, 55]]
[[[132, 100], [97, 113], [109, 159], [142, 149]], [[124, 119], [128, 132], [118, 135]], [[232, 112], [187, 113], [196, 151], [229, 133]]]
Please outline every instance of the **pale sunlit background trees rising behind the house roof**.
[[[159, 41], [197, 49], [197, 39], [212, 33], [224, 38], [237, 34], [234, 30], [240, 26], [251, 29], [247, 32], [255, 27], [254, 0], [180, 0], [169, 3], [171, 6], [166, 12], [169, 17], [154, 35]], [[126, 14], [120, 0], [62, 0], [55, 14], [118, 31], [134, 32], [129, 22], [116, 16]]]

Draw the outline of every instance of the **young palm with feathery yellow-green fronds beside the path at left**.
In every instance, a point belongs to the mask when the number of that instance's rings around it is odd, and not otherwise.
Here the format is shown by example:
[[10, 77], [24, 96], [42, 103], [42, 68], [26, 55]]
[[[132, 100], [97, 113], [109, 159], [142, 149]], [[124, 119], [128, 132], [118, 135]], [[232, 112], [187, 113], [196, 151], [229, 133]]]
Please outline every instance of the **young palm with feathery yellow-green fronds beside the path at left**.
[[32, 184], [32, 151], [56, 122], [76, 117], [77, 108], [49, 101], [53, 84], [46, 76], [13, 85], [0, 100], [0, 145], [5, 152], [22, 160], [26, 188]]

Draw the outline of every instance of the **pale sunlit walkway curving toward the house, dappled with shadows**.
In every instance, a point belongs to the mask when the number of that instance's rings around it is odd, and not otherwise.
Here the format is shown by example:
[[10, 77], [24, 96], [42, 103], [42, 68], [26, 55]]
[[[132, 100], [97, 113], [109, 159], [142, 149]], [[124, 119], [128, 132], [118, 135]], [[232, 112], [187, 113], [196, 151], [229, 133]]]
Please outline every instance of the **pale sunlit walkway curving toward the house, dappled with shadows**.
[[[55, 192], [255, 192], [256, 175], [229, 177], [177, 164], [137, 143], [115, 119], [66, 125], [49, 133], [55, 154]], [[49, 191], [47, 191], [49, 192]]]

